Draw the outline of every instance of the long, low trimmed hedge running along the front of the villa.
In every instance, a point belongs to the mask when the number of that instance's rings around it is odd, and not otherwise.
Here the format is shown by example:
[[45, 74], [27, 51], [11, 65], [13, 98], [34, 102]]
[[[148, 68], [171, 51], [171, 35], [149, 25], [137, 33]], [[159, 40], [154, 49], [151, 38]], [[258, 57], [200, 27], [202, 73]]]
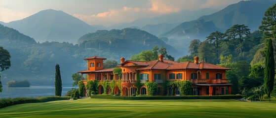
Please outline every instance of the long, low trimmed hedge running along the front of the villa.
[[124, 100], [157, 100], [157, 99], [238, 99], [241, 95], [214, 95], [214, 96], [112, 96], [91, 95], [91, 98], [124, 99]]

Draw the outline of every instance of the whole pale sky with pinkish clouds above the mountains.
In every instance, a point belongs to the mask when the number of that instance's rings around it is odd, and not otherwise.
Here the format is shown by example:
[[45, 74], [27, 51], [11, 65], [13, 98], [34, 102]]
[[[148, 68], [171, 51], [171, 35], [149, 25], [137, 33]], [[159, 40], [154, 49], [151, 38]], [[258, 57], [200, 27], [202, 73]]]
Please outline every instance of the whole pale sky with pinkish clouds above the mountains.
[[106, 27], [182, 10], [220, 10], [240, 0], [0, 0], [0, 21], [21, 20], [41, 10], [62, 10], [89, 25]]

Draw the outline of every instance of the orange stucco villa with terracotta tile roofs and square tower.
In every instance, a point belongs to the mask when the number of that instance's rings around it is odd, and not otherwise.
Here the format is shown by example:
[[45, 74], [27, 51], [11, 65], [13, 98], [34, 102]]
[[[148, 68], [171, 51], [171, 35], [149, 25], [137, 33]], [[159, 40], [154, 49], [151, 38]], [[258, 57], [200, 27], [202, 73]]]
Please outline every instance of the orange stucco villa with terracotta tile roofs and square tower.
[[[199, 62], [198, 57], [194, 58], [194, 62], [175, 62], [167, 59], [163, 59], [163, 55], [158, 56], [158, 60], [153, 61], [133, 61], [120, 59], [121, 76], [113, 73], [114, 68], [104, 68], [103, 60], [105, 58], [101, 57], [91, 57], [86, 58], [87, 60], [87, 70], [79, 71], [81, 77], [83, 74], [87, 74], [87, 79], [82, 77], [82, 82], [84, 84], [89, 80], [105, 81], [111, 82], [113, 79], [115, 81], [121, 80], [121, 90], [115, 87], [112, 90], [113, 94], [119, 94], [122, 92], [123, 96], [131, 96], [135, 94], [137, 88], [135, 83], [137, 82], [137, 77], [140, 77], [141, 83], [146, 82], [156, 82], [158, 83], [158, 92], [156, 95], [162, 95], [162, 80], [166, 79], [168, 81], [191, 81], [192, 94], [193, 95], [221, 95], [221, 94], [231, 94], [231, 84], [228, 84], [226, 79], [226, 70], [229, 68], [221, 67], [215, 64], [207, 62]], [[139, 74], [139, 76], [137, 76]], [[99, 86], [98, 94], [103, 93], [103, 87]], [[108, 87], [108, 94], [110, 93], [110, 87]], [[175, 93], [170, 93], [175, 91]], [[171, 90], [167, 89], [167, 93], [171, 95], [180, 95], [178, 88]], [[85, 94], [86, 89], [85, 89]], [[139, 89], [139, 94], [147, 94], [147, 87], [142, 86]]]

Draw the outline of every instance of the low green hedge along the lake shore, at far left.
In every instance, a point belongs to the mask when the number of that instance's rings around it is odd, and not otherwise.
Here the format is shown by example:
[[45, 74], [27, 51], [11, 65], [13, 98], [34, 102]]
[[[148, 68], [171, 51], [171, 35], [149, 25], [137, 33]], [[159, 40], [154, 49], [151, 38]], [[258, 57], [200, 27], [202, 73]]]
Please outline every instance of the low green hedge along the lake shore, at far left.
[[24, 103], [39, 103], [39, 102], [49, 102], [56, 100], [68, 100], [70, 97], [58, 97], [58, 96], [47, 96], [47, 97], [17, 97], [17, 98], [2, 98], [0, 99], [0, 108], [12, 106], [16, 104]]

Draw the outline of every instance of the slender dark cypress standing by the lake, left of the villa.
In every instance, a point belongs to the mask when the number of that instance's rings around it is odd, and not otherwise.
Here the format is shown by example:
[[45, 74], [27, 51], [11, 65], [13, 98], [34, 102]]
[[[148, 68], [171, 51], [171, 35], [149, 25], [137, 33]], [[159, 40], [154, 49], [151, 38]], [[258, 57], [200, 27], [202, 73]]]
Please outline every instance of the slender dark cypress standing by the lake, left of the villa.
[[56, 74], [55, 74], [55, 94], [56, 96], [61, 96], [62, 84], [60, 76], [59, 64], [56, 64]]

